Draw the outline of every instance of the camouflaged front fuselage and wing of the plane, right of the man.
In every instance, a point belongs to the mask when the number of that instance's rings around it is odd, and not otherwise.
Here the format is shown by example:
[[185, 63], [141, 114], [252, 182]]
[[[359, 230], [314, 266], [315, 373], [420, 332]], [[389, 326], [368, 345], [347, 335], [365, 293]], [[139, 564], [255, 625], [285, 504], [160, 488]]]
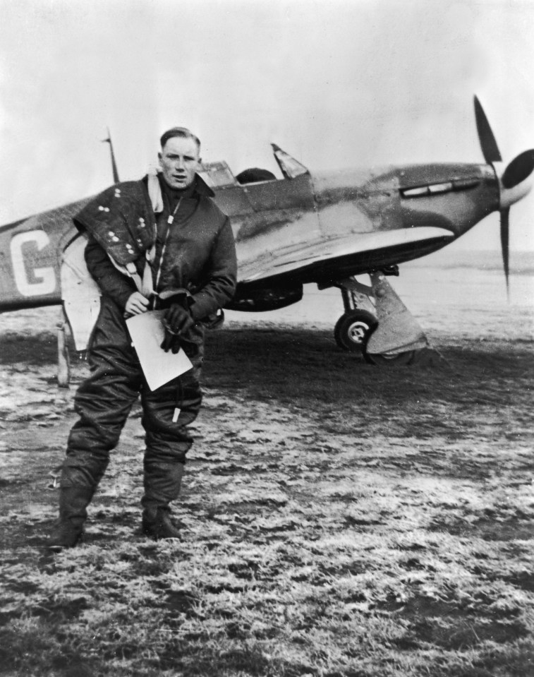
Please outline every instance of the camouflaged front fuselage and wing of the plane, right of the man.
[[226, 188], [217, 202], [231, 212], [241, 284], [327, 284], [448, 244], [499, 208], [499, 183], [491, 165], [409, 165]]

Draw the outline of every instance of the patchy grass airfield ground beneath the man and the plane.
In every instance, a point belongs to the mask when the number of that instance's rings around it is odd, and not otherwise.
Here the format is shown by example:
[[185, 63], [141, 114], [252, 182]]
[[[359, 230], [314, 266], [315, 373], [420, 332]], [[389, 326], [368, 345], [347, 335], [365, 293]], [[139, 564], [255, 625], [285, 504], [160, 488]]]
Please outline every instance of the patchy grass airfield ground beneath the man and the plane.
[[0, 674], [534, 673], [531, 342], [382, 371], [329, 332], [214, 333], [183, 539], [140, 534], [135, 407], [85, 543], [47, 556], [73, 390], [31, 337], [31, 373], [0, 337]]

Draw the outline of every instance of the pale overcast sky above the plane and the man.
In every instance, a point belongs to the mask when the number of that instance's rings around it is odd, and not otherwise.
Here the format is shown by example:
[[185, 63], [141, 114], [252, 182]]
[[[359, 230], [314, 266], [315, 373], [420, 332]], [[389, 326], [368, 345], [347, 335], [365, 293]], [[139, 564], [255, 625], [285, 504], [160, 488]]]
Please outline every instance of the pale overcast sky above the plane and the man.
[[[204, 160], [276, 172], [482, 162], [477, 93], [505, 161], [534, 148], [534, 0], [0, 0], [0, 223], [154, 162], [176, 124]], [[511, 248], [534, 249], [534, 193]], [[499, 248], [498, 219], [463, 238]]]

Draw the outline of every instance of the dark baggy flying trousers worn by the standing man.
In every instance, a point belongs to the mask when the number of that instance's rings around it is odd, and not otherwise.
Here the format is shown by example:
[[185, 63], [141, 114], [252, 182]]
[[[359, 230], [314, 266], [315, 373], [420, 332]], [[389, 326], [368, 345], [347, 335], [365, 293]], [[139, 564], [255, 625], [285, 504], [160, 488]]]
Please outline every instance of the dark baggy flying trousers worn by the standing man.
[[[131, 345], [123, 313], [114, 301], [103, 297], [87, 355], [90, 376], [75, 395], [79, 419], [68, 437], [61, 486], [95, 489], [139, 394], [145, 429], [145, 472], [155, 465], [184, 463], [193, 443], [187, 426], [197, 417], [202, 401], [201, 349], [190, 359], [193, 369], [151, 391]], [[173, 421], [176, 409], [180, 413]]]

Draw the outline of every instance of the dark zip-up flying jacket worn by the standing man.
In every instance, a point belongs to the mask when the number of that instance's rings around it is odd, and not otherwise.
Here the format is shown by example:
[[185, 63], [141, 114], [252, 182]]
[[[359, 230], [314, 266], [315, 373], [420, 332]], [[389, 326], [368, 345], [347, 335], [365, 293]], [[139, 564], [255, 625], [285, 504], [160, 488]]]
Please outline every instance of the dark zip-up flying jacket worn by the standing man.
[[169, 191], [162, 191], [163, 209], [154, 213], [147, 180], [145, 176], [107, 188], [74, 217], [78, 229], [89, 236], [87, 268], [102, 293], [123, 310], [136, 287], [109, 257], [130, 269], [134, 264], [142, 275], [150, 251], [154, 255], [154, 290], [166, 292], [166, 296], [186, 289], [191, 315], [195, 320], [205, 319], [226, 305], [236, 289], [236, 248], [230, 220], [197, 175], [193, 191], [184, 193], [176, 203], [174, 221], [169, 223], [175, 207]]

